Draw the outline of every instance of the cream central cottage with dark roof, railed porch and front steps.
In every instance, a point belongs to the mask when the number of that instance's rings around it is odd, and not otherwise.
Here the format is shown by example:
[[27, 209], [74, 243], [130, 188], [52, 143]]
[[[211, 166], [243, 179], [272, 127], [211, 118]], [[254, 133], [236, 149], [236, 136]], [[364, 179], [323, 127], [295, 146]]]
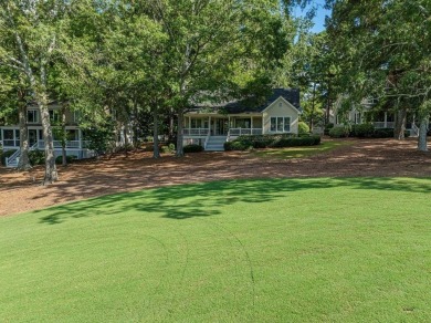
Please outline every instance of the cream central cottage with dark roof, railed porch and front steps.
[[199, 106], [185, 114], [185, 145], [199, 144], [206, 150], [223, 150], [224, 142], [241, 135], [297, 134], [301, 113], [297, 88], [274, 88], [260, 105], [241, 100]]

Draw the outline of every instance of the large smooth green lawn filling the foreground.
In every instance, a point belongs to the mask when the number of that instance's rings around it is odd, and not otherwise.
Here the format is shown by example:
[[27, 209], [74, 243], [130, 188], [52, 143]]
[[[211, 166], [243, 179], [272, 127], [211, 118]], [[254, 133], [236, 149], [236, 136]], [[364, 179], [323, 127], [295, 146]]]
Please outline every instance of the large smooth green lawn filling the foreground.
[[431, 179], [218, 181], [0, 219], [1, 322], [428, 322]]

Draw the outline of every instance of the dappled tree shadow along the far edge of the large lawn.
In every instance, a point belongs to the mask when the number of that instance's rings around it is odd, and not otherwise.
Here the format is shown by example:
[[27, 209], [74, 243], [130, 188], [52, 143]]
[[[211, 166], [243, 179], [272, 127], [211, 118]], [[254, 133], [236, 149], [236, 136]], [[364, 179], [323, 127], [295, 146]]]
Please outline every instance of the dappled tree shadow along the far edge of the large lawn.
[[[350, 189], [431, 192], [431, 179], [406, 178], [314, 178], [254, 179], [179, 185], [135, 192], [108, 195], [45, 210], [41, 223], [57, 225], [65, 220], [113, 216], [127, 212], [159, 213], [167, 219], [183, 220], [221, 213], [220, 207], [239, 202], [261, 204], [288, 197], [290, 191], [348, 187]], [[318, 191], [317, 191], [318, 194]]]

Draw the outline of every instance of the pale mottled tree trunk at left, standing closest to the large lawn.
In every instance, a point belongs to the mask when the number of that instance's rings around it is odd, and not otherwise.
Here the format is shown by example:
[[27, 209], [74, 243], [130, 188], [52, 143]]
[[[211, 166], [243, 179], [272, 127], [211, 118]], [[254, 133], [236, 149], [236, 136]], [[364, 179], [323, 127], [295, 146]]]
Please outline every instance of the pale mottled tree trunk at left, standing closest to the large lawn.
[[50, 122], [50, 112], [48, 110], [48, 104], [42, 100], [40, 100], [38, 102], [38, 105], [41, 112], [43, 140], [45, 146], [45, 176], [43, 178], [42, 185], [46, 185], [59, 180], [59, 174], [55, 167], [54, 143], [53, 143], [52, 128]]

